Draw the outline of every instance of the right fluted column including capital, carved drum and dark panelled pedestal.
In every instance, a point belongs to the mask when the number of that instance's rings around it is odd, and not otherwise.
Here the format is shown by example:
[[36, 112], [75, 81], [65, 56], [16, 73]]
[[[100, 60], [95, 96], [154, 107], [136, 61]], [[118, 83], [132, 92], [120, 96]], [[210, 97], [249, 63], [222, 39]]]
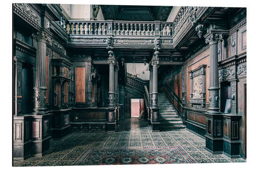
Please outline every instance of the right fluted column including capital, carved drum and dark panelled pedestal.
[[210, 30], [205, 36], [210, 48], [209, 108], [206, 114], [206, 149], [212, 154], [223, 152], [223, 117], [219, 107], [218, 40], [222, 35]]

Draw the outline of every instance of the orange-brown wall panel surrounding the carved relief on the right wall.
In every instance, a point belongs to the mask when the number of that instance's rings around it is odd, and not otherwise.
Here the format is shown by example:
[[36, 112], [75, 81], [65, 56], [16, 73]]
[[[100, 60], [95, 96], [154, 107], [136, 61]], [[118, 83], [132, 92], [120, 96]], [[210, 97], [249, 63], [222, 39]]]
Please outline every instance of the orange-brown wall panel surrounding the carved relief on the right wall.
[[[196, 68], [198, 68], [199, 66], [206, 64], [206, 80], [205, 80], [205, 86], [206, 89], [208, 89], [209, 87], [209, 64], [210, 64], [210, 60], [209, 60], [209, 48], [205, 51], [203, 51], [202, 53], [200, 53], [198, 56], [196, 56], [195, 58], [191, 59], [189, 62], [186, 63], [187, 66], [187, 71], [186, 71], [186, 93], [187, 93], [187, 102], [189, 102], [189, 94], [190, 94], [190, 79], [189, 79], [189, 71], [190, 70], [194, 70]], [[209, 102], [209, 91], [206, 90], [206, 103]]]

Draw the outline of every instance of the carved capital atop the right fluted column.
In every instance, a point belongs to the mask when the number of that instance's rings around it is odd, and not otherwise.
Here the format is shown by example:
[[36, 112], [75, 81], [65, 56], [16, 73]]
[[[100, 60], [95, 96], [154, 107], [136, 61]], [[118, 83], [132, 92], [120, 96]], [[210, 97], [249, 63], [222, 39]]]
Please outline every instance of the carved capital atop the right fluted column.
[[209, 43], [209, 45], [217, 44], [226, 34], [228, 34], [228, 30], [210, 30], [204, 35], [205, 43]]

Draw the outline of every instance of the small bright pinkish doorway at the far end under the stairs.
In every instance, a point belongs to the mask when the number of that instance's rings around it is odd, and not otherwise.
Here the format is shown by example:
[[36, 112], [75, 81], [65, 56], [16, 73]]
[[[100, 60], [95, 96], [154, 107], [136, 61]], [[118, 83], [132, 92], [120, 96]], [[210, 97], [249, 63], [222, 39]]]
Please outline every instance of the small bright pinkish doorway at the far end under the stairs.
[[131, 99], [131, 117], [140, 117], [144, 110], [144, 99]]

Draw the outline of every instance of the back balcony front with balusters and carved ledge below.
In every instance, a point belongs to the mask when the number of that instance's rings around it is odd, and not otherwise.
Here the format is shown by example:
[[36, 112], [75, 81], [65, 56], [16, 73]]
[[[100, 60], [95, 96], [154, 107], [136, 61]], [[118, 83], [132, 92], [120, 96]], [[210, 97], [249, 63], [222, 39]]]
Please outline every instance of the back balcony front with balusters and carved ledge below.
[[105, 47], [112, 36], [113, 47], [151, 48], [160, 37], [161, 47], [173, 46], [173, 23], [163, 21], [62, 20], [60, 27], [69, 35], [71, 47]]

